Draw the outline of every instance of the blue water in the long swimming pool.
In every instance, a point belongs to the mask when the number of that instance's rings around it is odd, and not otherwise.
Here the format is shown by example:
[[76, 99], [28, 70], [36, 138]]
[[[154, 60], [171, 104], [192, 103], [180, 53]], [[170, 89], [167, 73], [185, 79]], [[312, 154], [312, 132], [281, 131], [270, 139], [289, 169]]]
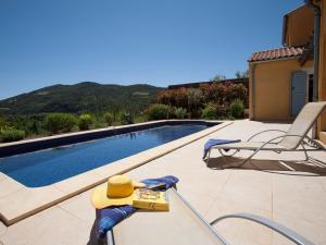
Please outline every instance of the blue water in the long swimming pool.
[[206, 127], [200, 124], [166, 125], [1, 158], [0, 172], [28, 187], [45, 186]]

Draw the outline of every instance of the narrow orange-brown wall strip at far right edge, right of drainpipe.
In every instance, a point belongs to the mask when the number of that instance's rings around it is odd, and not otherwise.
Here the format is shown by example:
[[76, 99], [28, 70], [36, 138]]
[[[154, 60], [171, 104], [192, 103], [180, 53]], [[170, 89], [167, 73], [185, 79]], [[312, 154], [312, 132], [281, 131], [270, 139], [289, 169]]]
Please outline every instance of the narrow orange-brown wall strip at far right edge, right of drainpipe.
[[[321, 50], [319, 50], [319, 100], [326, 100], [326, 0], [322, 1], [322, 22], [321, 22]], [[326, 111], [321, 117], [319, 130], [326, 131]], [[324, 142], [326, 144], [326, 140]]]

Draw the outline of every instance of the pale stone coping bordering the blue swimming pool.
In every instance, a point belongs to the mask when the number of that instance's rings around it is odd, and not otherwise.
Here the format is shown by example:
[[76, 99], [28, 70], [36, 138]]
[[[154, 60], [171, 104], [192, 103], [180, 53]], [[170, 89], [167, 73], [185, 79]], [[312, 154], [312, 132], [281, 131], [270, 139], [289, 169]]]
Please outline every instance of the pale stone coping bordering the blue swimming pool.
[[[168, 122], [189, 122], [189, 120], [171, 120]], [[154, 122], [146, 122], [133, 125], [124, 125], [112, 128], [116, 130], [125, 130], [129, 128], [134, 131], [141, 130], [143, 126], [160, 126], [158, 123], [164, 123], [166, 121], [154, 121]], [[204, 121], [201, 121], [204, 122]], [[71, 198], [79, 193], [83, 193], [91, 187], [97, 186], [106, 181], [108, 176], [124, 173], [130, 171], [141, 164], [145, 164], [153, 159], [162, 157], [175, 149], [178, 149], [191, 142], [195, 142], [201, 137], [204, 137], [224, 126], [231, 124], [233, 122], [215, 122], [217, 123], [214, 126], [208, 127], [203, 131], [197, 132], [195, 134], [188, 135], [186, 137], [166, 143], [164, 145], [141, 151], [139, 154], [133, 155], [127, 158], [123, 158], [111, 164], [102, 166], [97, 169], [87, 171], [85, 173], [75, 175], [73, 177], [57, 182], [54, 184], [50, 184], [42, 187], [29, 188], [24, 186], [23, 184], [16, 182], [10, 176], [0, 172], [0, 220], [4, 222], [7, 225], [18, 222], [26, 217], [35, 215], [46, 208], [52, 207], [55, 204], [59, 204], [67, 198]], [[162, 126], [162, 125], [161, 125]], [[87, 135], [91, 135], [93, 133], [105, 134], [110, 132], [111, 128], [100, 128], [88, 132], [78, 132], [71, 133], [59, 136], [51, 136], [45, 138], [36, 138], [29, 140], [22, 140], [18, 143], [9, 143], [1, 144], [0, 148], [4, 148], [7, 146], [16, 146], [18, 145], [21, 148], [30, 143], [42, 144], [47, 140], [52, 139], [61, 139], [66, 137], [75, 137], [76, 135], [83, 135], [87, 137]]]

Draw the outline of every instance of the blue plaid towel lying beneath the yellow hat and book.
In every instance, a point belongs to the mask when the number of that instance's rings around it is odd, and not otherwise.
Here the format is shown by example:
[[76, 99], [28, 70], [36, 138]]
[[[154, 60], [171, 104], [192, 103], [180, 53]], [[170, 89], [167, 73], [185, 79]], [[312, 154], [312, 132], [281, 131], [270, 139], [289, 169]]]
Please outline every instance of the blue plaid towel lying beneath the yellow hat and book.
[[[141, 181], [142, 183], [149, 184], [159, 184], [165, 183], [166, 189], [175, 185], [179, 180], [176, 176], [167, 175], [158, 179], [147, 179]], [[126, 219], [130, 215], [137, 211], [137, 208], [134, 208], [131, 205], [110, 207], [103, 209], [97, 209], [97, 235], [99, 238], [105, 237], [105, 234], [111, 230], [115, 224]]]

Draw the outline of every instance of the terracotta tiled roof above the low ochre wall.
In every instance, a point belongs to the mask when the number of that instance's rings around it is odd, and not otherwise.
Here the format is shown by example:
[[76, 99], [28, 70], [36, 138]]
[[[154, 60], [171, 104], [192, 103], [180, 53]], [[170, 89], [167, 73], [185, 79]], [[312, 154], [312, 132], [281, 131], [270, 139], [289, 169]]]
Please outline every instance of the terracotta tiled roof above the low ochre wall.
[[249, 62], [287, 59], [300, 57], [303, 53], [303, 48], [284, 47], [279, 49], [271, 49], [261, 52], [254, 52], [248, 60]]

